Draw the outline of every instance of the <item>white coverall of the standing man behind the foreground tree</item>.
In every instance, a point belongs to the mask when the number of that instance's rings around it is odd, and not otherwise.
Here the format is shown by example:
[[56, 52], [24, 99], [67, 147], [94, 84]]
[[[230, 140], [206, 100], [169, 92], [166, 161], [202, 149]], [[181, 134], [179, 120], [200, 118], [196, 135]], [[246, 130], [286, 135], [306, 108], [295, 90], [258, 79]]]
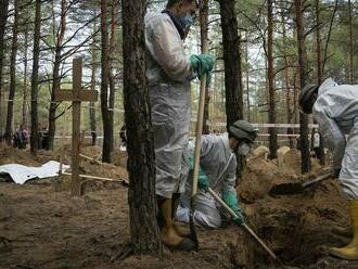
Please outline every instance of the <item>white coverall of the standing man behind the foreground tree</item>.
[[174, 192], [184, 190], [180, 175], [191, 119], [190, 80], [194, 76], [183, 41], [170, 17], [164, 13], [148, 13], [144, 23], [156, 194], [171, 198]]

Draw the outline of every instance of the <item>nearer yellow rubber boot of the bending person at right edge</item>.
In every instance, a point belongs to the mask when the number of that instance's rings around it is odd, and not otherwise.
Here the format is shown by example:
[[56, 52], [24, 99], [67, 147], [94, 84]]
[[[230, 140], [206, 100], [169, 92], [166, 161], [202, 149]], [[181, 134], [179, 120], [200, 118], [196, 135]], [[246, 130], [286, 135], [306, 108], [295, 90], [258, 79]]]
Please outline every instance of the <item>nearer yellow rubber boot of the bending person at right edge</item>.
[[356, 260], [358, 259], [358, 200], [349, 201], [349, 212], [353, 239], [350, 243], [344, 247], [331, 247], [330, 254], [342, 259]]

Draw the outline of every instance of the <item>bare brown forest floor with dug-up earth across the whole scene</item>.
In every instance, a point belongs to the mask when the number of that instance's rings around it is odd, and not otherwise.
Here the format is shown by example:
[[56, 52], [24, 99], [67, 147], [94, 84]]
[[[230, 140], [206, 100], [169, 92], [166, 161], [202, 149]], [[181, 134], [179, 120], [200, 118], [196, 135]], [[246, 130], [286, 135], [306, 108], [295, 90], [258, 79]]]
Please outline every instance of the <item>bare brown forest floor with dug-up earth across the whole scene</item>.
[[[85, 154], [95, 157], [97, 146]], [[0, 145], [0, 165], [39, 166], [59, 159], [60, 151], [27, 151]], [[65, 163], [69, 163], [67, 146]], [[128, 178], [124, 153], [116, 165], [82, 162], [82, 172]], [[305, 179], [322, 174], [318, 164]], [[332, 232], [348, 227], [347, 204], [338, 184], [329, 179], [304, 193], [272, 197], [272, 184], [299, 181], [299, 154], [291, 150], [281, 167], [260, 157], [248, 162], [238, 187], [251, 227], [291, 268], [358, 268], [328, 255], [328, 246], [349, 241]], [[119, 259], [129, 242], [127, 187], [118, 182], [88, 181], [85, 194], [69, 195], [69, 177], [34, 180], [23, 185], [0, 183], [0, 268], [280, 268], [242, 229], [199, 230], [200, 251], [170, 252], [162, 257], [130, 256]]]

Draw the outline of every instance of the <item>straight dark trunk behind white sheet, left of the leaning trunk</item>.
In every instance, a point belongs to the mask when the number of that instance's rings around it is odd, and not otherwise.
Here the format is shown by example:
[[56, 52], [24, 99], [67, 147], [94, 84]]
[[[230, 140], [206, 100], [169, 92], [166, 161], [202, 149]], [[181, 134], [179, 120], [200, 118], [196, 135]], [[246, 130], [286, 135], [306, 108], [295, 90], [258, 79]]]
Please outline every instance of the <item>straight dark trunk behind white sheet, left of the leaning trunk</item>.
[[40, 55], [40, 31], [41, 31], [41, 0], [35, 2], [35, 33], [34, 33], [34, 52], [33, 52], [33, 75], [31, 75], [31, 136], [30, 150], [36, 154], [38, 150], [38, 73]]

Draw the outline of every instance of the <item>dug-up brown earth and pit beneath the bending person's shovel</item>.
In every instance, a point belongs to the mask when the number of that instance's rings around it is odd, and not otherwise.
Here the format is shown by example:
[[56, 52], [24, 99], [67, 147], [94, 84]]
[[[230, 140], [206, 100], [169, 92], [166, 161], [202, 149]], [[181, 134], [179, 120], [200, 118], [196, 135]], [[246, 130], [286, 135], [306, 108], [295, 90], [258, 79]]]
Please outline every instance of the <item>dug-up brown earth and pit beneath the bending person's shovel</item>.
[[[291, 266], [308, 268], [319, 264], [337, 268], [340, 261], [328, 256], [328, 246], [347, 243], [347, 239], [332, 233], [332, 227], [348, 227], [347, 204], [337, 181], [329, 179], [291, 196], [269, 195], [272, 184], [302, 182], [325, 174], [317, 162], [314, 170], [299, 175], [301, 154], [291, 150], [284, 155], [282, 167], [276, 162], [255, 158], [239, 185], [244, 212], [252, 226], [279, 257]], [[260, 262], [269, 262], [263, 253], [256, 253]]]

